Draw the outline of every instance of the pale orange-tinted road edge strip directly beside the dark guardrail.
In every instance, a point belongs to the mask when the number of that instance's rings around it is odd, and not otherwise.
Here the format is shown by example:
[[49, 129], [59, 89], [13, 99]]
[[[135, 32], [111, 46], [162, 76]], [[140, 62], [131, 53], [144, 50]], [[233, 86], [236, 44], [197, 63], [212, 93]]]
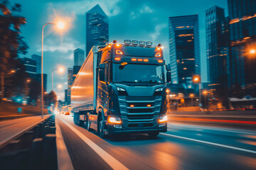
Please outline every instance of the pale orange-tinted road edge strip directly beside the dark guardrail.
[[[57, 116], [56, 116], [57, 117]], [[65, 146], [63, 140], [63, 135], [60, 130], [60, 125], [58, 123], [58, 118], [55, 117], [56, 126], [56, 145], [57, 145], [57, 155], [58, 155], [58, 169], [61, 170], [73, 170], [73, 164], [68, 154], [68, 149]]]

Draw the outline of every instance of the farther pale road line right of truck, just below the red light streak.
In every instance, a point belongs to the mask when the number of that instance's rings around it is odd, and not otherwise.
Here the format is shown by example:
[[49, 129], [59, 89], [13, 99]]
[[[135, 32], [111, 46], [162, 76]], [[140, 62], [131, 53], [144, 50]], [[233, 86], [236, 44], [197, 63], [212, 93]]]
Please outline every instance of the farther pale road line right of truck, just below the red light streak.
[[[183, 127], [183, 128], [190, 128], [194, 127], [194, 128], [198, 128], [198, 129], [202, 129], [202, 130], [218, 130], [218, 131], [224, 131], [224, 132], [234, 132], [234, 133], [240, 133], [240, 134], [247, 134], [247, 135], [256, 135], [256, 133], [252, 133], [252, 132], [242, 132], [242, 131], [234, 131], [234, 130], [227, 130], [225, 129], [220, 129], [220, 128], [208, 128], [206, 126], [202, 126], [202, 125], [181, 125], [178, 123], [171, 123], [171, 125], [175, 125], [175, 126], [179, 126], [179, 127]], [[173, 128], [173, 126], [171, 126], [170, 123], [167, 125], [169, 128]]]

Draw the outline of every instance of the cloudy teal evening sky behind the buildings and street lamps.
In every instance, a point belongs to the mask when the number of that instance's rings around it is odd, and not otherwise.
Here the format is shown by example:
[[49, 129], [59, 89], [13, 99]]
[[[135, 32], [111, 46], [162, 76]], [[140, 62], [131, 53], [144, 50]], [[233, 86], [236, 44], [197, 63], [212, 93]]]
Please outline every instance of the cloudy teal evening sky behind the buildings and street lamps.
[[43, 69], [48, 74], [47, 91], [51, 90], [51, 71], [65, 67], [65, 74], [54, 74], [54, 86], [60, 100], [64, 99], [64, 89], [68, 86], [68, 67], [73, 67], [73, 50], [85, 50], [85, 13], [100, 4], [109, 17], [110, 41], [129, 40], [151, 41], [164, 46], [164, 59], [169, 63], [169, 17], [198, 14], [201, 50], [201, 76], [207, 81], [206, 68], [206, 26], [205, 11], [212, 6], [225, 8], [228, 16], [228, 0], [11, 0], [11, 5], [21, 4], [19, 15], [27, 20], [21, 27], [29, 49], [26, 55], [41, 55], [41, 30], [45, 23], [65, 20], [67, 27], [58, 31], [53, 25], [44, 30]]

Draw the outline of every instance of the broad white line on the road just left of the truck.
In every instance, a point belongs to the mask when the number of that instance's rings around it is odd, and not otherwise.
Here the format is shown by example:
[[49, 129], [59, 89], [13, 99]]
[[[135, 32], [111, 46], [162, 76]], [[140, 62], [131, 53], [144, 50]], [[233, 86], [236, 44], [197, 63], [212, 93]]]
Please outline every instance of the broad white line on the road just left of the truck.
[[98, 145], [96, 145], [92, 140], [90, 140], [88, 137], [82, 134], [79, 130], [73, 128], [72, 125], [68, 124], [65, 120], [63, 120], [63, 123], [68, 126], [73, 132], [75, 132], [78, 137], [80, 137], [89, 147], [91, 147], [112, 169], [127, 169], [126, 166], [124, 166], [121, 162], [119, 162], [117, 159], [112, 157], [110, 154], [105, 152], [102, 148], [100, 148]]

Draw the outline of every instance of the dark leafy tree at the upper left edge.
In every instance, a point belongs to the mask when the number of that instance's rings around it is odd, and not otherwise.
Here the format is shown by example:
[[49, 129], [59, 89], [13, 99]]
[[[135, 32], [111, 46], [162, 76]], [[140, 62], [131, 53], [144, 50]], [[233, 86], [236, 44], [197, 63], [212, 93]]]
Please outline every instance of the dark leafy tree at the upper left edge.
[[2, 79], [11, 69], [17, 67], [18, 55], [25, 55], [28, 50], [28, 45], [23, 41], [20, 30], [21, 26], [26, 23], [26, 18], [16, 15], [19, 12], [21, 12], [20, 4], [9, 6], [9, 0], [0, 0], [0, 74]]

